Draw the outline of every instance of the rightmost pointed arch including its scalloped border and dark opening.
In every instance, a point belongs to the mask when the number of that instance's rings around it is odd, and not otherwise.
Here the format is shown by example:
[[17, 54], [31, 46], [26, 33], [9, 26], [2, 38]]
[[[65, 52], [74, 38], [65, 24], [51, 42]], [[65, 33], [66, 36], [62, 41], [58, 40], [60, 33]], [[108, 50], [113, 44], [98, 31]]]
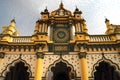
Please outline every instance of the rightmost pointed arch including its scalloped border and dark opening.
[[93, 66], [91, 73], [95, 80], [119, 80], [120, 69], [119, 66], [112, 62], [110, 59], [106, 59], [105, 56], [98, 60]]

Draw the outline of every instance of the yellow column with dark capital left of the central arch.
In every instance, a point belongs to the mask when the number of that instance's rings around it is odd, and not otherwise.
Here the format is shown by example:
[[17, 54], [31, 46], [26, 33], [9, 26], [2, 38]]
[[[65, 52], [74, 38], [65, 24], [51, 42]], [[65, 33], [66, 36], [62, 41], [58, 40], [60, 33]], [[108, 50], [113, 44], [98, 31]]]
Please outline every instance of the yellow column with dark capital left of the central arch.
[[43, 52], [37, 52], [37, 66], [36, 66], [36, 75], [35, 80], [42, 80], [42, 72], [43, 72]]

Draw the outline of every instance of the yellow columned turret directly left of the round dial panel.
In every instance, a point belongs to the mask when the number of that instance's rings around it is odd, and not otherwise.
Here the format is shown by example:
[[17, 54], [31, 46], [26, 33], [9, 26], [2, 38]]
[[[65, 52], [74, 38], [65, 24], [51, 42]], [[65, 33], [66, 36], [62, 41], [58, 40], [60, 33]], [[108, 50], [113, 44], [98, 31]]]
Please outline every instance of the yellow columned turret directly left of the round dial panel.
[[41, 18], [36, 21], [34, 35], [32, 40], [46, 40], [48, 34], [48, 26], [49, 26], [49, 12], [46, 9], [41, 12]]

